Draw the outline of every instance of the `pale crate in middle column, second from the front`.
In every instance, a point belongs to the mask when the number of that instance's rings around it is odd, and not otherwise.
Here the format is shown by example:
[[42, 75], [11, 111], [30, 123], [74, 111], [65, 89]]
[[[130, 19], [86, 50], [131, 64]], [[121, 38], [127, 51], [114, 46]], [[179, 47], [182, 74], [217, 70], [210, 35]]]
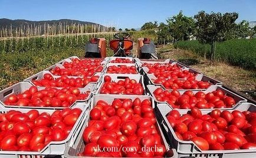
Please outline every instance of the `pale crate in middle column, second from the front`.
[[[139, 74], [103, 74], [101, 83], [100, 83], [98, 89], [96, 90], [96, 94], [100, 94], [100, 89], [104, 84], [104, 77], [106, 75], [109, 75], [111, 77], [111, 81], [114, 81], [116, 83], [119, 80], [125, 80], [125, 78], [130, 78], [130, 79], [136, 80], [137, 83], [142, 84], [142, 87], [144, 89], [144, 93], [146, 94], [146, 88], [145, 88], [145, 85], [144, 85], [144, 82], [143, 82], [144, 81], [143, 75], [139, 75]], [[113, 95], [113, 94], [106, 94], [106, 95]]]

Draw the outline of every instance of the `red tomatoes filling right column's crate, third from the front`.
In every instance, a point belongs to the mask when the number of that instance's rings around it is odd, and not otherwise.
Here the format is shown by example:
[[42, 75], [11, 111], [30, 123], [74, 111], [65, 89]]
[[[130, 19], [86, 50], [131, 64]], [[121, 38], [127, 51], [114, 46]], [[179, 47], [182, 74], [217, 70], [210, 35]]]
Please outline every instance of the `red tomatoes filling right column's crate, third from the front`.
[[178, 78], [163, 78], [159, 77], [156, 80], [153, 81], [155, 84], [161, 84], [166, 89], [172, 89], [172, 90], [189, 90], [189, 89], [206, 89], [211, 83], [204, 82], [204, 81], [196, 81], [195, 76], [191, 76], [187, 78], [186, 80], [178, 79]]

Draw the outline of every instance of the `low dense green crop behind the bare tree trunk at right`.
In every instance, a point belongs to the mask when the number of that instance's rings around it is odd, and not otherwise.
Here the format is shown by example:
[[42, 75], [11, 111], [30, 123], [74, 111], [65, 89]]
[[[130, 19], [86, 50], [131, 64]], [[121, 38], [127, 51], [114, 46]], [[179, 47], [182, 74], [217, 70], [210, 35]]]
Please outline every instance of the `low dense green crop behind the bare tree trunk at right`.
[[[234, 39], [216, 43], [216, 60], [228, 62], [231, 65], [255, 70], [256, 69], [256, 38]], [[211, 45], [201, 44], [199, 41], [180, 41], [174, 44], [175, 48], [191, 50], [204, 56], [209, 54]], [[209, 55], [208, 55], [209, 58]]]

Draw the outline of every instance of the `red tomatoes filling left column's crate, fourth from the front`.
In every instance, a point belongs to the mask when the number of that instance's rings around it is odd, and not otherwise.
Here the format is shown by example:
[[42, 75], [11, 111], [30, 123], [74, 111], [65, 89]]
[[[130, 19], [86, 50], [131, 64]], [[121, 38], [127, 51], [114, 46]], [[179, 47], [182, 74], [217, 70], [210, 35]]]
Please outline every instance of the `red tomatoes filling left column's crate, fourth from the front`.
[[90, 77], [95, 73], [101, 73], [103, 71], [102, 66], [97, 66], [95, 64], [89, 65], [86, 68], [60, 68], [55, 67], [50, 72], [53, 75], [70, 75], [70, 76], [83, 76]]

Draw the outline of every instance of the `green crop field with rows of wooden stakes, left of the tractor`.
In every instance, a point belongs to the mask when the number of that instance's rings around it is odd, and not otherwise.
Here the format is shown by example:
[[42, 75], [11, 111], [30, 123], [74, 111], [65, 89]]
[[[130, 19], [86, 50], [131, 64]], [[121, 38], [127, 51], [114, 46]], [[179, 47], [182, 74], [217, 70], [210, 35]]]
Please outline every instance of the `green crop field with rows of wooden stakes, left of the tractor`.
[[[64, 35], [0, 40], [0, 89], [24, 80], [56, 62], [76, 55], [84, 56], [88, 39], [104, 37], [109, 43], [113, 33]], [[107, 45], [107, 53], [109, 50]]]

